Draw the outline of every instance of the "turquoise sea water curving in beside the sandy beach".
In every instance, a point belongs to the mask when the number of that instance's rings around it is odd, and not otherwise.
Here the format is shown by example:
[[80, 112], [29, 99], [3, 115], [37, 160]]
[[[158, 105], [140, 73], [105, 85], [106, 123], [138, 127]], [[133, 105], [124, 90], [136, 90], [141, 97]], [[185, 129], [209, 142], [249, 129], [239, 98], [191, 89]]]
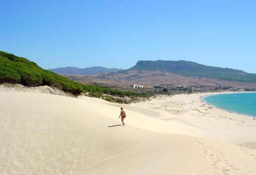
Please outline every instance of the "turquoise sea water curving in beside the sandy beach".
[[256, 93], [210, 95], [204, 100], [218, 108], [256, 117]]

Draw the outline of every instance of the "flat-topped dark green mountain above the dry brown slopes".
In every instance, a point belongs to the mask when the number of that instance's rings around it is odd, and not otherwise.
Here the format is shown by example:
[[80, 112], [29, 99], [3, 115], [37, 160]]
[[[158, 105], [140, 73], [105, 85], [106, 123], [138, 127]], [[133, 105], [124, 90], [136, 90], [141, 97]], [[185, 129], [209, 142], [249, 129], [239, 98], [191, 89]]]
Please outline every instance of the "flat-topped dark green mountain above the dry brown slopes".
[[139, 71], [165, 71], [183, 76], [197, 76], [205, 78], [216, 78], [221, 80], [256, 83], [256, 74], [249, 74], [241, 70], [205, 66], [190, 61], [138, 61], [129, 70]]

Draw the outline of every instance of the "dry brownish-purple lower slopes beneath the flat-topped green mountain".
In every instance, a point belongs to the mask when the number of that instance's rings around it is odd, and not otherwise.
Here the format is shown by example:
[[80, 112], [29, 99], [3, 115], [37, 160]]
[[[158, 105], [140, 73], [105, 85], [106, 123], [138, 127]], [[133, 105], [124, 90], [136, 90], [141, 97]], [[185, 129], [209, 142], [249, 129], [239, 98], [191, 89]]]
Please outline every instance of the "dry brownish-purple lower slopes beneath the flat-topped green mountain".
[[101, 84], [120, 89], [129, 89], [131, 85], [144, 85], [146, 88], [155, 86], [192, 86], [215, 89], [218, 87], [237, 87], [240, 89], [255, 88], [256, 83], [243, 83], [220, 80], [216, 78], [191, 77], [161, 71], [120, 71], [94, 75], [68, 76], [71, 80], [84, 84]]

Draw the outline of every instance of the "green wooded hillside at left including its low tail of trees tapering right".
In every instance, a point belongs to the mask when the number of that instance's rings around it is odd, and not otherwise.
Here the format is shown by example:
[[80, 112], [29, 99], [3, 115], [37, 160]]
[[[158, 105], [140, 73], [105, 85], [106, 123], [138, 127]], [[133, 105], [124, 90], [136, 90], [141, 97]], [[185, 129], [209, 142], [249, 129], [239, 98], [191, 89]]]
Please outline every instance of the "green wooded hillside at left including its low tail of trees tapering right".
[[25, 86], [48, 85], [74, 95], [90, 92], [89, 94], [95, 97], [101, 97], [102, 93], [115, 96], [147, 96], [147, 94], [137, 92], [76, 83], [54, 72], [44, 70], [26, 58], [17, 57], [3, 51], [0, 51], [0, 83], [19, 83]]

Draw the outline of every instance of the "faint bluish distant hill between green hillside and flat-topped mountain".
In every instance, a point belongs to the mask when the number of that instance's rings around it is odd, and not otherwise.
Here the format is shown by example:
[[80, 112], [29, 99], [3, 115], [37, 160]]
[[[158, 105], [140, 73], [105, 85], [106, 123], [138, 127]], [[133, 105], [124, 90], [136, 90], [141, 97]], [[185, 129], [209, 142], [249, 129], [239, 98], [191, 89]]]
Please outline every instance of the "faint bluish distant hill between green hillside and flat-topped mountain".
[[98, 74], [98, 73], [110, 73], [110, 72], [118, 72], [122, 69], [108, 69], [105, 67], [95, 66], [95, 67], [89, 67], [89, 68], [76, 68], [76, 67], [64, 67], [64, 68], [56, 68], [56, 69], [49, 69], [52, 72], [58, 73], [58, 74], [67, 74], [67, 75], [74, 75], [74, 74], [80, 74], [80, 75], [90, 75], [90, 74]]

